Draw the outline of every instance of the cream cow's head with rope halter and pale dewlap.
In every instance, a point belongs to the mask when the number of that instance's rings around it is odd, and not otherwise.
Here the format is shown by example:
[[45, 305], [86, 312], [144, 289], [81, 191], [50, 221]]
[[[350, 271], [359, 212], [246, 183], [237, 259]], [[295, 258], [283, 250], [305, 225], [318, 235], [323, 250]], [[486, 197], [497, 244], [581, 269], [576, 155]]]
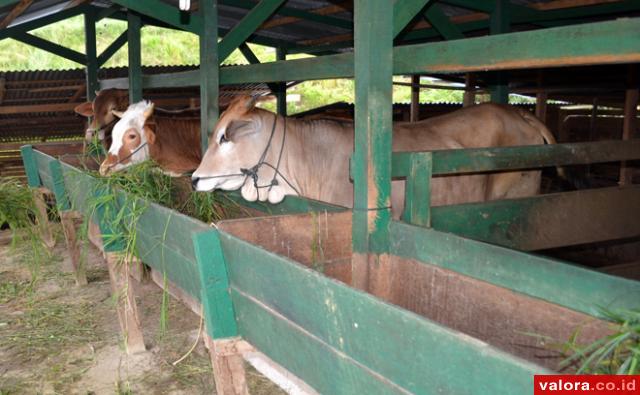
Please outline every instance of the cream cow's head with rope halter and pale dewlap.
[[[282, 182], [271, 188], [256, 190], [253, 179], [243, 174], [243, 169], [251, 169], [260, 162], [269, 145], [269, 136], [276, 119], [274, 114], [255, 108], [256, 101], [251, 96], [237, 97], [222, 113], [209, 138], [207, 152], [193, 173], [192, 184], [195, 190], [233, 191], [242, 188], [242, 197], [246, 200], [268, 199], [271, 203], [282, 201], [290, 192]], [[266, 159], [274, 162], [270, 155], [273, 152], [277, 155], [279, 149], [280, 137], [274, 136]], [[258, 185], [269, 184], [273, 175], [272, 168], [261, 166], [258, 169]]]

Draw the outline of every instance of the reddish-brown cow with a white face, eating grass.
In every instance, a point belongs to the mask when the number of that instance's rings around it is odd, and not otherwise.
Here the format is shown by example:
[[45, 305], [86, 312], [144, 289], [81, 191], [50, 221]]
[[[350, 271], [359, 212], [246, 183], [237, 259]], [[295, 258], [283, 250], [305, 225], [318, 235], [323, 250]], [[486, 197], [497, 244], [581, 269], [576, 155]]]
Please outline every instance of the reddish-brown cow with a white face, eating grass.
[[141, 101], [126, 111], [112, 111], [119, 120], [100, 174], [108, 175], [135, 163], [153, 159], [172, 176], [193, 171], [202, 159], [200, 118], [165, 118], [153, 115], [154, 105]]

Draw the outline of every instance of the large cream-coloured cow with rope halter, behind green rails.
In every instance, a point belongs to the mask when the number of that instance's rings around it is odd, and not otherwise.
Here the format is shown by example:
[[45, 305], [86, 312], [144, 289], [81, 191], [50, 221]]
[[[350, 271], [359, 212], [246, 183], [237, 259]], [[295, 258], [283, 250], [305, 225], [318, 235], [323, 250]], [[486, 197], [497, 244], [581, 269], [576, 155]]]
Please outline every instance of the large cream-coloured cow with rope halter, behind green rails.
[[[420, 122], [393, 125], [393, 151], [433, 151], [554, 144], [549, 130], [527, 111], [480, 104]], [[278, 203], [286, 195], [351, 207], [349, 157], [354, 146], [350, 121], [277, 116], [238, 97], [221, 115], [202, 163], [192, 175], [198, 191], [240, 189], [248, 201]], [[435, 177], [432, 204], [532, 196], [540, 171]], [[392, 182], [394, 217], [404, 208], [404, 181]]]

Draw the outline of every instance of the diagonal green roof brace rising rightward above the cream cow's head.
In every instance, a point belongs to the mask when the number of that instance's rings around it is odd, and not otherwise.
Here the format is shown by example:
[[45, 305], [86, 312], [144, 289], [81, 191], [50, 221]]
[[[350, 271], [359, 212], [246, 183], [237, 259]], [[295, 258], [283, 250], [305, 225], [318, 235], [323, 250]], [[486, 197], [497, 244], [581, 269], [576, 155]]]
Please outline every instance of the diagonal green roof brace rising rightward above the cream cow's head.
[[[222, 63], [245, 42], [285, 0], [262, 0], [245, 15], [218, 44], [218, 60]], [[206, 20], [206, 19], [205, 19]]]

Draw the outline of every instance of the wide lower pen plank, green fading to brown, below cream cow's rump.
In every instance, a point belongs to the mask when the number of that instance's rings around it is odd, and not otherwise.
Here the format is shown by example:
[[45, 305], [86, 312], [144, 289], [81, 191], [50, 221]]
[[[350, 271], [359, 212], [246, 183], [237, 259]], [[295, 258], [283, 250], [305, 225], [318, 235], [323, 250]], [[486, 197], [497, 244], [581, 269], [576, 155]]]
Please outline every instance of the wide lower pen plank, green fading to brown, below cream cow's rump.
[[640, 236], [640, 187], [440, 206], [431, 211], [434, 229], [525, 251]]

